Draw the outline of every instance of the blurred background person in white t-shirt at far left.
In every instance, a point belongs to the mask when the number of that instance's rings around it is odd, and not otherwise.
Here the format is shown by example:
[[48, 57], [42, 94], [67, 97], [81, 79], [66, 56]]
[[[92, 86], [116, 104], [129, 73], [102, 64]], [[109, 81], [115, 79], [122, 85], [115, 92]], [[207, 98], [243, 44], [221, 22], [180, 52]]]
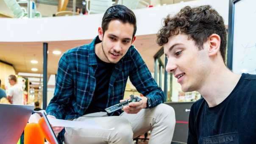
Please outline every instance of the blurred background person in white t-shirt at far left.
[[9, 75], [8, 77], [11, 88], [8, 89], [7, 99], [12, 104], [23, 105], [23, 89], [17, 83], [15, 75]]

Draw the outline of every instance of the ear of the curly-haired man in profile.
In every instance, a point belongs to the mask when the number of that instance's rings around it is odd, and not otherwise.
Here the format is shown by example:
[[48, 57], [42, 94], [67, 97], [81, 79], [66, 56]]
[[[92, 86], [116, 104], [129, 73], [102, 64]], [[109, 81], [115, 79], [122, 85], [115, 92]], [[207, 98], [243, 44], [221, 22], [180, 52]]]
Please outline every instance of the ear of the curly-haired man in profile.
[[211, 34], [211, 36], [209, 36], [209, 56], [214, 56], [217, 55], [218, 52], [220, 52], [220, 36], [217, 34]]

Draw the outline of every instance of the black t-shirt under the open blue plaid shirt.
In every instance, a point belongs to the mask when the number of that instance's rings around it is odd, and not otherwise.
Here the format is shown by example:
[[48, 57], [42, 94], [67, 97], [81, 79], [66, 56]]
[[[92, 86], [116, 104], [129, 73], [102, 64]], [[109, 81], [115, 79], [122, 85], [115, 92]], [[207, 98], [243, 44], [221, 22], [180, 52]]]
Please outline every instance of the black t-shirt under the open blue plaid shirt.
[[[95, 72], [96, 88], [92, 97], [92, 102], [85, 114], [105, 111], [108, 102], [109, 81], [115, 64], [106, 63], [97, 57], [97, 69]], [[105, 111], [106, 112], [106, 111]]]

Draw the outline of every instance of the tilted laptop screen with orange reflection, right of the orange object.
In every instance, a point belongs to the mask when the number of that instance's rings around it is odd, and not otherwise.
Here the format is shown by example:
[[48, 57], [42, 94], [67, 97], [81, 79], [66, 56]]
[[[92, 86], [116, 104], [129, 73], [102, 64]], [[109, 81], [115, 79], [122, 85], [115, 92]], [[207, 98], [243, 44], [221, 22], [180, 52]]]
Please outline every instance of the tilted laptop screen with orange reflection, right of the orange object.
[[47, 141], [49, 141], [50, 144], [59, 144], [52, 127], [50, 126], [50, 122], [47, 119], [46, 112], [44, 110], [41, 111], [34, 111], [34, 113], [37, 113], [41, 116], [41, 119], [39, 120], [39, 126], [42, 128], [42, 131], [45, 135], [45, 138]]

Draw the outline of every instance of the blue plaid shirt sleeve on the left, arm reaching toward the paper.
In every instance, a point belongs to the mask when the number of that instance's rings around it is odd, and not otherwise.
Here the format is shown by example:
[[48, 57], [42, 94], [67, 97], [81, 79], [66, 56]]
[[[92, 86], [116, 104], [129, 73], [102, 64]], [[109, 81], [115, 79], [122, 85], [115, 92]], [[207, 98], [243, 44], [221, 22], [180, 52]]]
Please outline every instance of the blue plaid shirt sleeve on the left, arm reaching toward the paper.
[[58, 63], [54, 96], [46, 109], [47, 114], [53, 115], [57, 119], [64, 119], [65, 106], [69, 105], [73, 95], [72, 74], [67, 60], [64, 53]]

